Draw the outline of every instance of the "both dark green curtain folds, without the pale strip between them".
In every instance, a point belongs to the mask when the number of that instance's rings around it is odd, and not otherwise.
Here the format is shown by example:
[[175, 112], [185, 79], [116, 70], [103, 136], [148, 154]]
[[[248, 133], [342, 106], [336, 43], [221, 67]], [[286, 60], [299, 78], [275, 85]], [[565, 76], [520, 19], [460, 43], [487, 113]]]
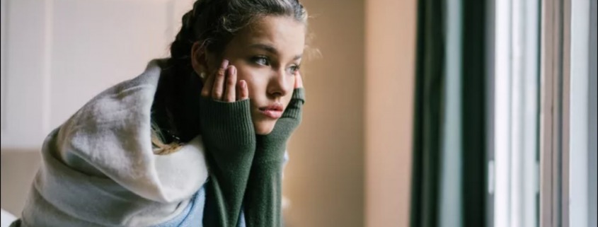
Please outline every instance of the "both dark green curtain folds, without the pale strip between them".
[[[461, 209], [461, 224], [486, 224], [486, 0], [451, 1], [461, 7], [461, 201], [442, 206]], [[446, 89], [445, 21], [447, 0], [418, 2], [418, 46], [413, 124], [413, 176], [410, 226], [442, 226], [440, 194]]]

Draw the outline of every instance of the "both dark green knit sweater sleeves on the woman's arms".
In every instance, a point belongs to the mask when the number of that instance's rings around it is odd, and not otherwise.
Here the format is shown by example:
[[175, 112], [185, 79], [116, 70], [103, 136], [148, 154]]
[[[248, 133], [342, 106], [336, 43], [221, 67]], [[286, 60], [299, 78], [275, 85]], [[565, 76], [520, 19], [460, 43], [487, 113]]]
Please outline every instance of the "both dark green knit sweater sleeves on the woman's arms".
[[295, 89], [272, 132], [256, 135], [249, 100], [202, 98], [200, 128], [210, 172], [204, 226], [237, 226], [241, 209], [247, 226], [282, 226], [282, 162], [304, 102], [304, 89]]

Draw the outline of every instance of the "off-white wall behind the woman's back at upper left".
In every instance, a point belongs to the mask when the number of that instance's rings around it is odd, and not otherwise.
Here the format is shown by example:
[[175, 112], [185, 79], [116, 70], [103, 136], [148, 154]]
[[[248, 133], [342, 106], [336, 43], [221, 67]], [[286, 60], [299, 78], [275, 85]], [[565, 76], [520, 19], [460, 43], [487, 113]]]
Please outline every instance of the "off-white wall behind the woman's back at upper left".
[[2, 0], [1, 148], [38, 149], [87, 100], [166, 57], [191, 3]]

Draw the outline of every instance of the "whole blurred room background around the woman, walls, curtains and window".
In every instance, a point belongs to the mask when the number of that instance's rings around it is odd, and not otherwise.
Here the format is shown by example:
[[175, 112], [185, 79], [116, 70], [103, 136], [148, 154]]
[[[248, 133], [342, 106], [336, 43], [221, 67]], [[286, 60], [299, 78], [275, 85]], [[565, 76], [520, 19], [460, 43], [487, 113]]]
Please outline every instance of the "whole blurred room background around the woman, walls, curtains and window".
[[[168, 57], [193, 1], [0, 2], [1, 208], [18, 217], [45, 136]], [[287, 226], [598, 226], [596, 0], [301, 3]]]

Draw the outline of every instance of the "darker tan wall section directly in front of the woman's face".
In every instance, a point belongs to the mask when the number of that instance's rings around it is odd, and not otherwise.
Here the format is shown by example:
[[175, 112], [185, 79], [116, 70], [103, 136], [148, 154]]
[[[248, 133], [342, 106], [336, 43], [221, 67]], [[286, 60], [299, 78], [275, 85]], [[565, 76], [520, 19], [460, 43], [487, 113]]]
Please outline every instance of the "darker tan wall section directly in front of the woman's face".
[[364, 225], [364, 1], [304, 0], [314, 18], [304, 122], [289, 144], [289, 227]]

